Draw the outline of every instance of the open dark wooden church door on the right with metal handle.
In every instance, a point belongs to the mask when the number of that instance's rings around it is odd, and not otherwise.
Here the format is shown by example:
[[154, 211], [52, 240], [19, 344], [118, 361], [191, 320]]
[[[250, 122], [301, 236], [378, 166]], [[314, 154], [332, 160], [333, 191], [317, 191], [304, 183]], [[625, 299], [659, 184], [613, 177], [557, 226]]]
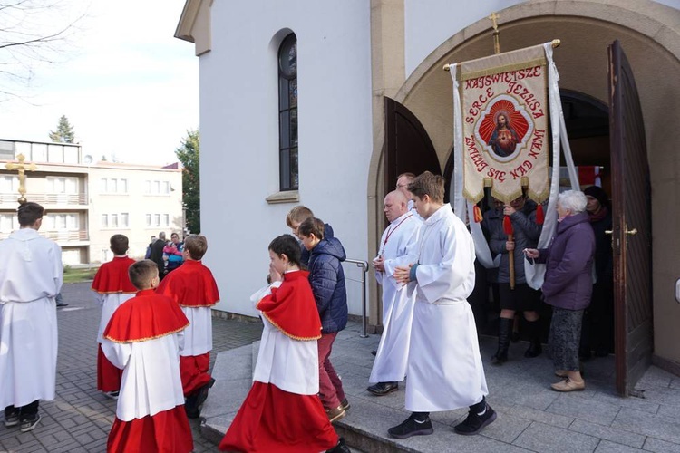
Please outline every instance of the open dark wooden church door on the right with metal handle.
[[618, 41], [608, 64], [617, 392], [636, 396], [654, 351], [651, 191], [636, 82]]

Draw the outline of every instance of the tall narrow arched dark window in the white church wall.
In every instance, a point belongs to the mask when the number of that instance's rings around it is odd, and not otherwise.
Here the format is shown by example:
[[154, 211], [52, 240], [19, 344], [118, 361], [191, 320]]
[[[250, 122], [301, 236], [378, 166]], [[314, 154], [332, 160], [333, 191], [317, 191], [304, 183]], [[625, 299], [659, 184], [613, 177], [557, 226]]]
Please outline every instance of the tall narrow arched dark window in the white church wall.
[[278, 169], [281, 190], [298, 188], [297, 38], [288, 34], [278, 48]]

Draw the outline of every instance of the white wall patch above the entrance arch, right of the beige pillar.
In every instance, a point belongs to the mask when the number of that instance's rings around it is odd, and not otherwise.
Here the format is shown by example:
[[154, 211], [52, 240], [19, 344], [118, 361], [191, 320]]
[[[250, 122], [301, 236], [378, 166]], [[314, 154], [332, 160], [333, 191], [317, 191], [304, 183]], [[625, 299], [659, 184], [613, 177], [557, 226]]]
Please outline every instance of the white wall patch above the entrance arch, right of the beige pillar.
[[[406, 77], [440, 44], [494, 11], [526, 0], [404, 0]], [[499, 20], [502, 24], [502, 17]], [[489, 21], [491, 29], [491, 20]], [[491, 43], [491, 41], [490, 41]], [[492, 43], [490, 51], [493, 52]], [[490, 52], [490, 53], [491, 53]]]

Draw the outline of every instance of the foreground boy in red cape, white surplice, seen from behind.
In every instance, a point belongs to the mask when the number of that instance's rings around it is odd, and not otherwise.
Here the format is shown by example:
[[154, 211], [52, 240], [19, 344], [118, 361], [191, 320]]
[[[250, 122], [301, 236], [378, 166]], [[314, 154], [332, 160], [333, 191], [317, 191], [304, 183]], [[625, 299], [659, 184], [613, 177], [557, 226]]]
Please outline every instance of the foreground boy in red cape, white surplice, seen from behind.
[[140, 292], [118, 307], [104, 331], [102, 350], [122, 369], [116, 419], [107, 451], [193, 450], [180, 378], [181, 331], [189, 320], [180, 307], [156, 294], [158, 266], [145, 259], [130, 266]]

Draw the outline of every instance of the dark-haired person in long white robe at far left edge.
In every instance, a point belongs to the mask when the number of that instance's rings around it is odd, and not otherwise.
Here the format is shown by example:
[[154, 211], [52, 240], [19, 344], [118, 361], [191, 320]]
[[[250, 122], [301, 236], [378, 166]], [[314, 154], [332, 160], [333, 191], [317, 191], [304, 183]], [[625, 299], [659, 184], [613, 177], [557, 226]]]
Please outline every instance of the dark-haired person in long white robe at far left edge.
[[62, 249], [38, 235], [44, 208], [27, 202], [18, 231], [0, 242], [0, 407], [5, 427], [30, 431], [40, 400], [54, 400]]

